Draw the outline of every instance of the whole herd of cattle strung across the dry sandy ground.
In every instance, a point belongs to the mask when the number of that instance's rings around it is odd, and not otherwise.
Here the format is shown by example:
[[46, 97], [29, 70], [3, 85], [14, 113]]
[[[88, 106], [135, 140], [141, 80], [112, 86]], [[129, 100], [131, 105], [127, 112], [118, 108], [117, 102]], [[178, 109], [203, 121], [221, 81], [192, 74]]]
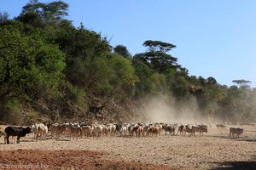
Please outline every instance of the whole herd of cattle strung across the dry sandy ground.
[[[209, 126], [209, 125], [208, 125]], [[17, 143], [20, 143], [20, 137], [25, 137], [27, 133], [34, 133], [34, 138], [46, 139], [46, 136], [51, 138], [60, 139], [68, 137], [70, 139], [78, 139], [79, 137], [101, 137], [101, 136], [159, 136], [161, 131], [165, 134], [171, 135], [194, 135], [199, 133], [207, 133], [208, 126], [204, 124], [198, 125], [183, 125], [180, 123], [107, 123], [107, 124], [85, 124], [85, 123], [34, 123], [32, 127], [6, 127], [4, 129], [5, 137], [4, 143], [9, 144], [10, 136], [17, 136]], [[212, 125], [210, 125], [212, 126]], [[226, 128], [223, 124], [215, 125], [218, 128]], [[242, 128], [230, 127], [230, 137], [239, 138], [243, 133]], [[235, 136], [236, 134], [236, 136]]]

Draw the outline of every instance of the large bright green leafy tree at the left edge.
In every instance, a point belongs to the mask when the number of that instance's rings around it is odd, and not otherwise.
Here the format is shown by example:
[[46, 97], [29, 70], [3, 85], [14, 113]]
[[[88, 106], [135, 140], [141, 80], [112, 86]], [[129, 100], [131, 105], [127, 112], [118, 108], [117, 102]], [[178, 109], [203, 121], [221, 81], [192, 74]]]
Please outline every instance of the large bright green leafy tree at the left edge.
[[40, 31], [27, 34], [19, 22], [1, 26], [0, 37], [0, 99], [56, 96], [65, 67], [58, 46]]

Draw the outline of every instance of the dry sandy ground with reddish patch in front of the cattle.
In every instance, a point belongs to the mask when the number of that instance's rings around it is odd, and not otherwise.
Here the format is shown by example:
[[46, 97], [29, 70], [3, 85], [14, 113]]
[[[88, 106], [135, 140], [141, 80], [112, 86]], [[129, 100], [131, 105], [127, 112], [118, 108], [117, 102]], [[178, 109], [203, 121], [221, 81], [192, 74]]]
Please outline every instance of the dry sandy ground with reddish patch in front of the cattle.
[[[162, 132], [159, 137], [35, 141], [30, 134], [21, 138], [20, 144], [3, 144], [2, 136], [0, 169], [15, 162], [23, 165], [39, 162], [49, 165], [46, 169], [256, 169], [256, 127], [243, 127], [245, 132], [240, 139], [230, 138], [228, 128], [221, 131], [210, 127], [203, 137], [198, 133], [191, 137]], [[72, 153], [77, 154], [72, 156]], [[13, 161], [3, 159], [12, 155], [17, 157]], [[49, 159], [32, 162], [37, 156]]]

